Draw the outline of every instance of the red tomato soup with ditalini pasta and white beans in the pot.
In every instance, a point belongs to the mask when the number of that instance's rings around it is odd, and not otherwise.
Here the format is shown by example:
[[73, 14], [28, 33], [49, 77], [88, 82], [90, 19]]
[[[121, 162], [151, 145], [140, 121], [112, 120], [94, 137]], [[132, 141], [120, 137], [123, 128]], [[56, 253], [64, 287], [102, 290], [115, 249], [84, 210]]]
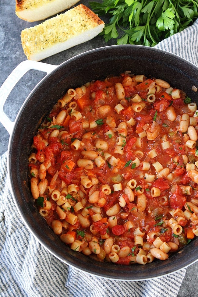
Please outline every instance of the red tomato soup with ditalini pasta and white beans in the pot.
[[117, 264], [166, 260], [198, 236], [198, 110], [129, 71], [69, 89], [29, 156], [38, 211], [71, 249]]

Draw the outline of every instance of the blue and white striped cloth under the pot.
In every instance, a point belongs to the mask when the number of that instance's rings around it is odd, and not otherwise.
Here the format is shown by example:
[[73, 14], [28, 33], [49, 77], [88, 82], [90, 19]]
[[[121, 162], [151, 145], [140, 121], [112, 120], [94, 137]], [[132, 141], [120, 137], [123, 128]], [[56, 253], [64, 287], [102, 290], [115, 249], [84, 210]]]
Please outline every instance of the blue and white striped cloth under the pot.
[[[156, 47], [198, 65], [198, 19]], [[114, 281], [82, 273], [51, 255], [27, 230], [9, 191], [6, 154], [0, 157], [0, 295], [2, 297], [176, 297], [182, 269], [146, 281]]]

